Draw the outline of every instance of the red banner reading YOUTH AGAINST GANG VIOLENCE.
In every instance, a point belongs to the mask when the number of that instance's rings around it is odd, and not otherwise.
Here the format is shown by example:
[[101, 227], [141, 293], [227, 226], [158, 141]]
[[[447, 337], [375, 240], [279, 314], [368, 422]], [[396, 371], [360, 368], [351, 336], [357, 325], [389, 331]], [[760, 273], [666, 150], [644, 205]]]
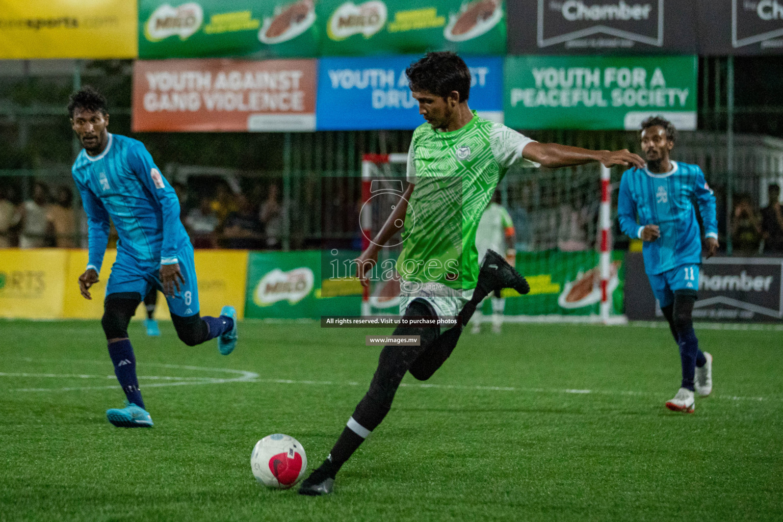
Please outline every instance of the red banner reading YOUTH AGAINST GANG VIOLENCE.
[[315, 59], [168, 59], [134, 64], [135, 132], [315, 129]]

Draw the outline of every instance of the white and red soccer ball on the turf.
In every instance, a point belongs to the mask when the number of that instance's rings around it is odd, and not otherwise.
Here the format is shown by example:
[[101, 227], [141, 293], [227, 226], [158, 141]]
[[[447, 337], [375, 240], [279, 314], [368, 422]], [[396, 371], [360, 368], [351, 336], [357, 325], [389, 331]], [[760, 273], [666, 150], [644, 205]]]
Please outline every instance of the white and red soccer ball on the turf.
[[256, 480], [269, 488], [288, 489], [307, 470], [305, 448], [290, 435], [267, 435], [255, 443], [250, 465]]

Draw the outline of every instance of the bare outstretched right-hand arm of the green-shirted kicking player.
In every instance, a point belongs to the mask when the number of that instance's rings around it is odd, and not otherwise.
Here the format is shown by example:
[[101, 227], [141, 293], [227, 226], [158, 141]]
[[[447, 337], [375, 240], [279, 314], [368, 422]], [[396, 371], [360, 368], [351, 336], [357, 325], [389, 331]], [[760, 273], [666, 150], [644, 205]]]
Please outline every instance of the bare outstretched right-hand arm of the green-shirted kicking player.
[[592, 161], [598, 161], [604, 164], [604, 167], [622, 165], [622, 167], [644, 168], [644, 160], [627, 149], [590, 150], [558, 143], [530, 142], [522, 151], [522, 157], [549, 168], [573, 167]]

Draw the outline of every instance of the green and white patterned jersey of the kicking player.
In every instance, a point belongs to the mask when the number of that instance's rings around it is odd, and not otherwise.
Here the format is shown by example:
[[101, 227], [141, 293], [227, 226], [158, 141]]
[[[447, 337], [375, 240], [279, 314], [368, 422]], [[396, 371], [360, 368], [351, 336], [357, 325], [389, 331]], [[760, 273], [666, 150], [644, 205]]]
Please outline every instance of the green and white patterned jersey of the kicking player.
[[421, 124], [408, 152], [408, 181], [416, 185], [402, 232], [397, 272], [406, 281], [472, 290], [478, 279], [476, 229], [500, 179], [534, 140], [478, 117], [456, 131]]

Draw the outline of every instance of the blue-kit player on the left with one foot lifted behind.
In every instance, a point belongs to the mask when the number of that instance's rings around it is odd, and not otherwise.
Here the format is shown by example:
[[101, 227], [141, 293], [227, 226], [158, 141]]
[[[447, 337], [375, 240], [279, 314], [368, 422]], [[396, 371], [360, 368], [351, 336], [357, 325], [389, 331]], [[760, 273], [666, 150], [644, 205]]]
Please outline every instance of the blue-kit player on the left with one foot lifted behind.
[[136, 360], [128, 340], [128, 322], [152, 288], [166, 295], [171, 321], [188, 346], [218, 338], [228, 355], [236, 346], [236, 310], [224, 306], [220, 317], [200, 317], [193, 246], [179, 221], [179, 200], [142, 142], [110, 134], [106, 99], [85, 87], [70, 97], [70, 124], [84, 150], [72, 169], [88, 218], [89, 261], [79, 276], [81, 295], [92, 299], [109, 239], [109, 219], [119, 240], [103, 304], [103, 332], [114, 373], [127, 405], [106, 411], [119, 427], [151, 427]]

